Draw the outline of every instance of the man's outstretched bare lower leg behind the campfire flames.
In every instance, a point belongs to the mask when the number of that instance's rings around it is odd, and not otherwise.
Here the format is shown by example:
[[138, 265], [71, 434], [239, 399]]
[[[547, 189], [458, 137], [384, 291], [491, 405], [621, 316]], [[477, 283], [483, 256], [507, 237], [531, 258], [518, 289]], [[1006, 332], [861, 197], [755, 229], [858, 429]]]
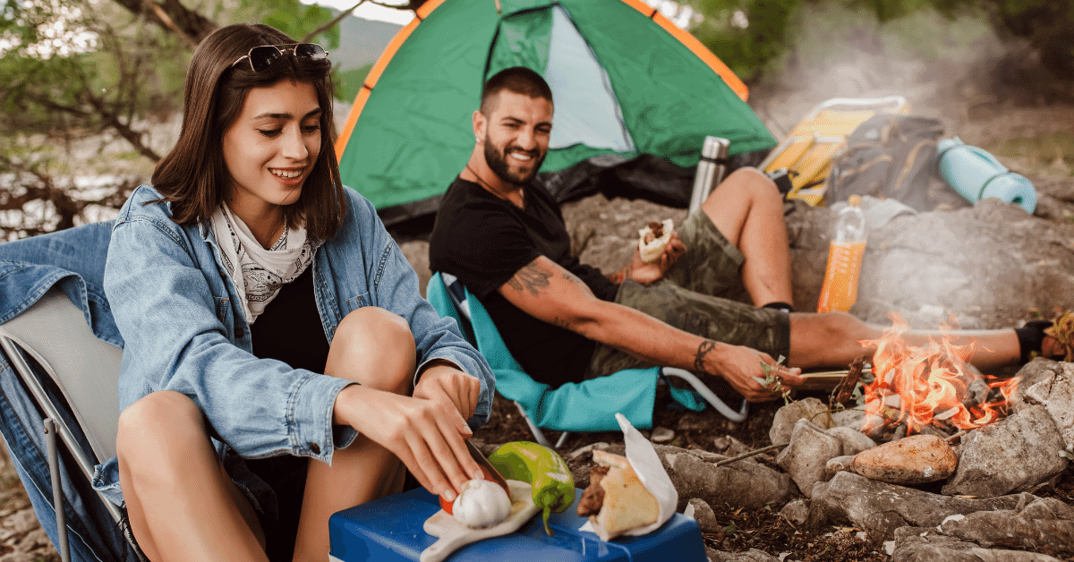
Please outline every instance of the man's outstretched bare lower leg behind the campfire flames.
[[[859, 342], [876, 340], [884, 327], [867, 325], [846, 313], [792, 314], [790, 366], [845, 368], [859, 356], [872, 357], [873, 348]], [[911, 345], [925, 345], [929, 338], [939, 341], [945, 334], [939, 330], [906, 330], [902, 337]], [[955, 330], [947, 332], [954, 345], [976, 342], [971, 359], [982, 370], [1018, 362], [1021, 349], [1014, 330]]]

